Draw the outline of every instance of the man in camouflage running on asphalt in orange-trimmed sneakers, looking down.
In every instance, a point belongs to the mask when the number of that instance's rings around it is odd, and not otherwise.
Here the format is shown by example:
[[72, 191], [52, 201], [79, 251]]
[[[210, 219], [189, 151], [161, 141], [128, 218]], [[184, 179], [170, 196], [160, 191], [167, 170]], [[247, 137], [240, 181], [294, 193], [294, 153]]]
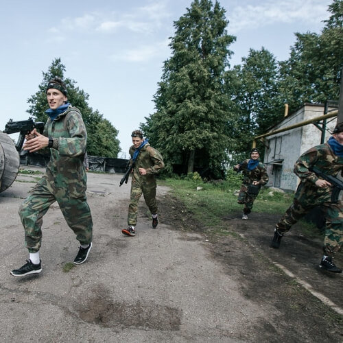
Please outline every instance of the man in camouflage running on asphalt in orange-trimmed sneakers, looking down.
[[130, 192], [130, 205], [128, 209], [128, 228], [121, 232], [124, 235], [136, 235], [134, 226], [137, 224], [138, 202], [143, 193], [145, 204], [152, 213], [152, 228], [158, 224], [158, 206], [156, 202], [156, 179], [157, 174], [165, 167], [161, 154], [154, 149], [147, 139], [143, 139], [143, 133], [135, 130], [131, 134], [133, 145], [130, 147], [130, 163], [134, 161], [132, 170], [132, 182]]

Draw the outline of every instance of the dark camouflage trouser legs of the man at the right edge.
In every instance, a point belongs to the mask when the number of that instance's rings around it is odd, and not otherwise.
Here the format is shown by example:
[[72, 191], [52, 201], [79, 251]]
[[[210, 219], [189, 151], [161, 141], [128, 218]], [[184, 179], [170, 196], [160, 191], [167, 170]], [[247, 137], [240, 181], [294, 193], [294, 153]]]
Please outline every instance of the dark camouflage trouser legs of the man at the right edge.
[[311, 211], [315, 206], [320, 205], [325, 217], [325, 235], [323, 243], [323, 251], [325, 255], [333, 256], [335, 252], [340, 250], [343, 244], [343, 204], [342, 201], [333, 203], [327, 202], [312, 202], [304, 204], [298, 199], [294, 199], [293, 203], [285, 214], [276, 224], [277, 230], [280, 233], [287, 232], [292, 225], [296, 224], [306, 213]]

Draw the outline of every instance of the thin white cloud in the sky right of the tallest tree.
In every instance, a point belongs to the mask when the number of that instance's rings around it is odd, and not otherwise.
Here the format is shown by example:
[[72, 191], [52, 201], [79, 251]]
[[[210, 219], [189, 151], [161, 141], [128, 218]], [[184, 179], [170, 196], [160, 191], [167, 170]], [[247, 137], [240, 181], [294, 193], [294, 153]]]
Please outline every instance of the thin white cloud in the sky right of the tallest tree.
[[323, 0], [269, 0], [262, 5], [238, 5], [228, 11], [230, 33], [273, 23], [320, 23], [328, 17], [328, 4]]

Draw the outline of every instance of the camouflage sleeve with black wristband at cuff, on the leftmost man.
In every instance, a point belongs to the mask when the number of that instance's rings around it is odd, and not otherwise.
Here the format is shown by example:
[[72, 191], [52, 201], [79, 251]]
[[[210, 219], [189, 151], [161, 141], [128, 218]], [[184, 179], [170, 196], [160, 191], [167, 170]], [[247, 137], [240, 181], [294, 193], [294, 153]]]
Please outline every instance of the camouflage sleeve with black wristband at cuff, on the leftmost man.
[[87, 132], [82, 116], [77, 111], [71, 111], [67, 117], [69, 137], [58, 139], [58, 151], [61, 156], [75, 157], [86, 151]]

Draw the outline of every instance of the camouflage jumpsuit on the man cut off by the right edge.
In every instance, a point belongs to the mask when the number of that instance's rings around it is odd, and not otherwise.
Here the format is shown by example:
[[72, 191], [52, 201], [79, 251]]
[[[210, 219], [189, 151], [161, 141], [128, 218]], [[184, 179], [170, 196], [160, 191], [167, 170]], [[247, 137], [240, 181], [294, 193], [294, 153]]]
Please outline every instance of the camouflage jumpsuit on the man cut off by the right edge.
[[318, 176], [309, 171], [317, 167], [325, 174], [337, 176], [342, 172], [343, 158], [335, 155], [328, 143], [317, 145], [298, 158], [294, 172], [300, 178], [300, 184], [289, 209], [276, 224], [279, 233], [287, 232], [301, 217], [320, 205], [325, 213], [326, 227], [323, 250], [324, 255], [333, 256], [343, 244], [343, 204], [331, 201], [332, 187], [319, 188], [315, 185]]

